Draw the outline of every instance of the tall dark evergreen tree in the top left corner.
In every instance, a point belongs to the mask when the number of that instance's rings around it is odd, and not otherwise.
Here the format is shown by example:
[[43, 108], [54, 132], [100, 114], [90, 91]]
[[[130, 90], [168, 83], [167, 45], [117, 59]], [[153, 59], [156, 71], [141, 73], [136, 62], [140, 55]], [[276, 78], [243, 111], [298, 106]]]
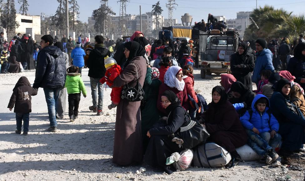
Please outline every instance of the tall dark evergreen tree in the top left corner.
[[2, 27], [6, 28], [7, 34], [19, 27], [19, 24], [16, 21], [15, 0], [6, 0], [6, 3], [2, 7], [0, 21]]

